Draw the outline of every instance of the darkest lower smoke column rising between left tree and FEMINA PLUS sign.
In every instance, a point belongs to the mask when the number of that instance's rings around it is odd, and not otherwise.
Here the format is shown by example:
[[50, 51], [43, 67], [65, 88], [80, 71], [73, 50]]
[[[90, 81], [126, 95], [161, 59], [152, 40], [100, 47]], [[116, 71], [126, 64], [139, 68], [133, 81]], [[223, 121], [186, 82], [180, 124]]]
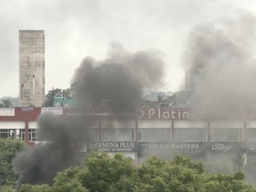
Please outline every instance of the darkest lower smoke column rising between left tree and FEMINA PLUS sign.
[[14, 172], [20, 174], [17, 187], [23, 183], [52, 184], [57, 172], [81, 163], [79, 151], [86, 151], [90, 142], [89, 128], [94, 122], [86, 116], [41, 115], [38, 119], [38, 140], [34, 148], [20, 153], [13, 160]]

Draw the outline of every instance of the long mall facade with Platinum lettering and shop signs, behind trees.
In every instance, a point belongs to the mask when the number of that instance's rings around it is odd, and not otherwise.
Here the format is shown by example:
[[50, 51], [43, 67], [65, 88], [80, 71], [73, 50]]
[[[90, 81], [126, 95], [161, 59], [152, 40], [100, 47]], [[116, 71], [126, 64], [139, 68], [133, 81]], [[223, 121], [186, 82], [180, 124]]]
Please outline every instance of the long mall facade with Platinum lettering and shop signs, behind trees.
[[36, 120], [44, 113], [96, 116], [95, 124], [84, 127], [93, 132], [90, 149], [124, 152], [138, 162], [175, 153], [206, 161], [229, 161], [236, 154], [248, 161], [256, 148], [255, 114], [222, 114], [210, 120], [186, 108], [140, 108], [136, 116], [108, 108], [0, 108], [0, 138], [24, 140], [33, 147], [40, 141]]

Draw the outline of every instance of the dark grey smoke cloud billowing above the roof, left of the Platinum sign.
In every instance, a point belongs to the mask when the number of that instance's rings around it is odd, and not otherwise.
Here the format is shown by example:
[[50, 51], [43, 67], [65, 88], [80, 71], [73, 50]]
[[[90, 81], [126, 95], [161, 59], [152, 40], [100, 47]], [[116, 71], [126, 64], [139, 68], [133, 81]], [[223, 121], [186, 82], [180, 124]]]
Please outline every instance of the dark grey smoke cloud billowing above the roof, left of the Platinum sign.
[[89, 106], [115, 103], [115, 112], [134, 112], [143, 88], [163, 83], [164, 63], [156, 52], [125, 52], [114, 45], [107, 60], [85, 58], [71, 84], [74, 97]]

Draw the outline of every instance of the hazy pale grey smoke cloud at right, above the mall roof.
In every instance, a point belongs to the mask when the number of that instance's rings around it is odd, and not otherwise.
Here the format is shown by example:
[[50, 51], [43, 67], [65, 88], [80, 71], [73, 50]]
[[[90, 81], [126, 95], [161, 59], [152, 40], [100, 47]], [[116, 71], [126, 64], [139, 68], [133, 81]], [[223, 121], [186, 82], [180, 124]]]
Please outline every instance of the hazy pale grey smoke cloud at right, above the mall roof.
[[256, 109], [255, 23], [244, 13], [192, 30], [184, 54], [192, 108], [207, 115]]

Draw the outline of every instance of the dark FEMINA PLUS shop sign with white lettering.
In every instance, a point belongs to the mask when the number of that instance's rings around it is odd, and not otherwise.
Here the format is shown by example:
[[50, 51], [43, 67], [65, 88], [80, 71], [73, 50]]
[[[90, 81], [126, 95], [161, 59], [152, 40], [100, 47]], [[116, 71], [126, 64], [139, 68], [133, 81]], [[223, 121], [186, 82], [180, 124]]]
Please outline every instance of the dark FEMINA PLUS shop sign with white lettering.
[[101, 141], [92, 142], [91, 149], [107, 152], [132, 152], [135, 151], [134, 141]]

